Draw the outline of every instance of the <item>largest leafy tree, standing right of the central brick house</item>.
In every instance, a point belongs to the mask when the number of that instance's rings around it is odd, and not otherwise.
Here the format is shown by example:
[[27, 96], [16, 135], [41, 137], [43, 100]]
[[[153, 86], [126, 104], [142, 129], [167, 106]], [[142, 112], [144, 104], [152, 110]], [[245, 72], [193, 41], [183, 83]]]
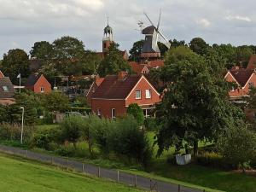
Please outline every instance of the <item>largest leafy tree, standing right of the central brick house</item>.
[[173, 52], [162, 69], [166, 91], [157, 109], [159, 154], [172, 145], [178, 151], [186, 141], [196, 155], [198, 141], [216, 140], [216, 134], [234, 119], [242, 119], [243, 113], [230, 105], [228, 83], [212, 74], [204, 57], [188, 50], [184, 55], [177, 52], [178, 56]]

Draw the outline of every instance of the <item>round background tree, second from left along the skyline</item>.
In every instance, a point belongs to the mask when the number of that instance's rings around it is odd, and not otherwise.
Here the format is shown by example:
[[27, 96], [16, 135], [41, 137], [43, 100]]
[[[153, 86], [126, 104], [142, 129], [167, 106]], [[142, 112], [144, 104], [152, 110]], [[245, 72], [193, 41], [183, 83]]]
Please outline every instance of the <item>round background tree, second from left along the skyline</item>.
[[47, 41], [36, 42], [29, 53], [32, 57], [47, 62], [52, 59], [53, 45]]

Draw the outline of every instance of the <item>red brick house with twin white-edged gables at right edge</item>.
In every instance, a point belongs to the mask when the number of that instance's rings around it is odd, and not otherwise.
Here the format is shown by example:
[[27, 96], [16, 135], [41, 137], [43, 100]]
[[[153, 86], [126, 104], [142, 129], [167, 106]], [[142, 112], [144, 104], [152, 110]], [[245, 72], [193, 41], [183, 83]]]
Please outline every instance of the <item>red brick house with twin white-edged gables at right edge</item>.
[[237, 84], [237, 89], [234, 87], [232, 90], [230, 90], [229, 96], [230, 100], [239, 101], [242, 100], [242, 97], [248, 96], [250, 88], [255, 87], [256, 72], [253, 69], [236, 67], [229, 70], [224, 79]]

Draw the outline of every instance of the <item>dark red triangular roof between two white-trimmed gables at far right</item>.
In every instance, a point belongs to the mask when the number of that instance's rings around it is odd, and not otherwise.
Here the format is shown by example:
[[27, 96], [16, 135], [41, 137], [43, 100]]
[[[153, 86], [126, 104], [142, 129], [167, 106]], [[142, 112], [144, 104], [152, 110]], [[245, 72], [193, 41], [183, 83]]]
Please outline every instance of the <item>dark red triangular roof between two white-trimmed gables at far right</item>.
[[253, 72], [253, 69], [244, 68], [230, 70], [232, 76], [242, 87], [247, 83], [248, 79], [252, 76]]

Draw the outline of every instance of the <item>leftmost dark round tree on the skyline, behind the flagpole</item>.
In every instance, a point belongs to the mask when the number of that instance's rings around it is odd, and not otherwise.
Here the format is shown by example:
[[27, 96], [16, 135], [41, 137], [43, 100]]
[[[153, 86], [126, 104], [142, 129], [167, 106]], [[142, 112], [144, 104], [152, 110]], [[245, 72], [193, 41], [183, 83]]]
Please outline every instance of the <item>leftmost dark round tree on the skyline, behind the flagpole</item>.
[[22, 49], [10, 49], [8, 54], [4, 54], [2, 67], [3, 74], [14, 84], [19, 82], [17, 79], [19, 73], [22, 78], [27, 78], [30, 74], [28, 55]]

